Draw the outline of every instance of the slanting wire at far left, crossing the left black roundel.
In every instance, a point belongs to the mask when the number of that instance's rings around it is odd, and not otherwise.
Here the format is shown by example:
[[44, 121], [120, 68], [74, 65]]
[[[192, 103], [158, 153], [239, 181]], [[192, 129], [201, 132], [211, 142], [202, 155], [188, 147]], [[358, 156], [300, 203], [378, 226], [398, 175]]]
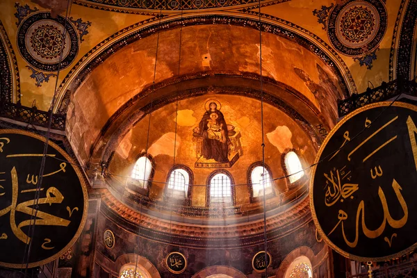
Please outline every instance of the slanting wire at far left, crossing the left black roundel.
[[[32, 211], [31, 211], [31, 218], [30, 218], [30, 224], [29, 224], [29, 229], [28, 229], [28, 238], [26, 238], [26, 245], [24, 247], [24, 255], [22, 258], [22, 266], [20, 268], [21, 272], [22, 272], [22, 268], [23, 265], [25, 265], [25, 270], [24, 270], [24, 277], [27, 276], [27, 272], [28, 272], [28, 265], [29, 265], [29, 261], [31, 258], [31, 252], [32, 252], [32, 245], [33, 245], [33, 236], [35, 235], [35, 224], [36, 224], [36, 218], [38, 215], [38, 211], [39, 211], [39, 199], [40, 199], [40, 188], [42, 187], [42, 177], [44, 174], [44, 167], [45, 167], [45, 163], [46, 163], [46, 158], [47, 158], [47, 152], [48, 152], [48, 146], [49, 146], [49, 138], [51, 136], [51, 125], [52, 125], [52, 117], [53, 117], [53, 111], [54, 111], [54, 106], [55, 106], [55, 102], [56, 102], [56, 88], [58, 88], [58, 79], [59, 79], [59, 74], [60, 74], [60, 68], [61, 68], [61, 62], [63, 60], [63, 49], [65, 47], [65, 37], [67, 35], [67, 22], [68, 22], [68, 17], [71, 14], [71, 7], [72, 7], [72, 0], [68, 0], [67, 3], [67, 10], [65, 13], [65, 24], [64, 24], [64, 30], [63, 30], [63, 42], [61, 44], [61, 50], [60, 50], [60, 54], [59, 54], [59, 59], [58, 59], [58, 70], [56, 72], [56, 81], [55, 81], [55, 85], [54, 85], [54, 95], [52, 96], [52, 100], [51, 100], [51, 106], [49, 106], [49, 115], [48, 115], [48, 129], [47, 129], [47, 136], [44, 142], [44, 149], [43, 149], [43, 153], [42, 153], [42, 161], [40, 163], [40, 170], [39, 170], [39, 181], [38, 184], [36, 185], [36, 190], [35, 190], [35, 199], [33, 202], [33, 206], [32, 206]], [[31, 240], [29, 240], [29, 238], [31, 238]], [[29, 242], [28, 242], [29, 241]], [[27, 251], [27, 256], [26, 256], [26, 251]]]

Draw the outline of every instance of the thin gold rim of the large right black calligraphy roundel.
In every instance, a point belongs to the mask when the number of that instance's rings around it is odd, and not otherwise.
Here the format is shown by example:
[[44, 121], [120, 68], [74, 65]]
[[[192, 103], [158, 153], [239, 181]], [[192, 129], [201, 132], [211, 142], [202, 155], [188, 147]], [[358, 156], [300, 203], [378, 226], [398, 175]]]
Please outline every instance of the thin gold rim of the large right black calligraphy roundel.
[[[341, 126], [347, 122], [348, 120], [350, 120], [352, 117], [358, 115], [359, 113], [363, 112], [363, 111], [367, 111], [369, 109], [372, 108], [381, 108], [381, 107], [386, 107], [388, 108], [389, 106], [396, 106], [396, 107], [400, 107], [400, 108], [407, 108], [411, 111], [414, 111], [417, 113], [417, 106], [414, 106], [412, 104], [408, 104], [408, 103], [403, 103], [403, 102], [395, 102], [395, 103], [391, 103], [389, 101], [382, 101], [382, 102], [377, 102], [375, 104], [368, 104], [366, 106], [363, 106], [361, 108], [358, 108], [357, 110], [353, 111], [352, 113], [348, 114], [347, 116], [345, 116], [340, 122], [338, 122], [338, 124], [336, 124], [336, 126], [334, 126], [334, 128], [332, 129], [332, 131], [329, 132], [329, 134], [327, 135], [327, 137], [325, 138], [324, 142], [322, 143], [322, 146], [320, 147], [318, 154], [316, 156], [316, 161], [314, 162], [314, 166], [311, 169], [311, 179], [310, 179], [310, 184], [309, 184], [309, 197], [310, 197], [310, 208], [311, 208], [311, 216], [313, 218], [313, 222], [316, 225], [316, 231], [318, 231], [318, 234], [320, 235], [320, 239], [321, 240], [325, 240], [325, 243], [327, 243], [327, 245], [329, 245], [329, 247], [331, 247], [333, 250], [335, 250], [336, 252], [338, 252], [339, 254], [341, 254], [342, 256], [345, 256], [347, 258], [350, 259], [354, 259], [356, 261], [388, 261], [394, 258], [398, 258], [400, 256], [403, 256], [404, 254], [407, 254], [409, 252], [412, 252], [413, 250], [416, 250], [417, 248], [417, 243], [414, 243], [413, 245], [405, 248], [404, 250], [401, 250], [400, 252], [395, 252], [395, 254], [391, 254], [389, 256], [380, 256], [380, 257], [366, 257], [366, 256], [357, 256], [354, 254], [350, 254], [349, 252], [346, 252], [344, 250], [341, 250], [340, 247], [336, 246], [332, 240], [330, 240], [328, 238], [328, 236], [325, 234], [325, 232], [323, 231], [319, 220], [317, 218], [317, 214], [316, 214], [316, 208], [314, 206], [314, 195], [313, 195], [313, 183], [315, 180], [315, 176], [316, 176], [316, 170], [317, 170], [317, 163], [319, 161], [322, 160], [321, 156], [322, 156], [322, 152], [324, 151], [325, 147], [327, 146], [327, 144], [329, 143], [329, 140], [331, 140], [332, 136], [334, 135], [334, 133], [336, 133], [336, 131], [338, 131], [338, 129], [341, 128]], [[368, 118], [366, 118], [366, 120], [368, 120]], [[371, 171], [372, 174], [372, 171]], [[340, 211], [339, 211], [340, 212]], [[392, 236], [391, 236], [391, 242], [392, 242]], [[391, 243], [390, 243], [390, 247], [391, 247]]]

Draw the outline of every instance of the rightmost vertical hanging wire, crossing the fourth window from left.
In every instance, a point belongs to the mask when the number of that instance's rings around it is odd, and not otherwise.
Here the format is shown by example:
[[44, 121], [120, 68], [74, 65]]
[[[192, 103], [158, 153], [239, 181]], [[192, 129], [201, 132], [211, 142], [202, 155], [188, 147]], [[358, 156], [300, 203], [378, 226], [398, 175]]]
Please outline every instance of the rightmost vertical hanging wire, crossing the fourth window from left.
[[[265, 177], [265, 135], [263, 130], [263, 77], [262, 77], [262, 21], [261, 21], [261, 0], [259, 0], [259, 79], [261, 87], [261, 136], [262, 136], [262, 172]], [[265, 277], [268, 277], [268, 238], [266, 235], [266, 197], [265, 182], [263, 187], [263, 244], [265, 251]]]

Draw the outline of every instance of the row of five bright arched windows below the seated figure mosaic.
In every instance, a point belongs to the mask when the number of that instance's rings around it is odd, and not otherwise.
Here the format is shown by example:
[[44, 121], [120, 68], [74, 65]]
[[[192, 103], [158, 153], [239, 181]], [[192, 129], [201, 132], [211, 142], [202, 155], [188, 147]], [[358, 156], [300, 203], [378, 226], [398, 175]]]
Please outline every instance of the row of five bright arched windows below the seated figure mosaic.
[[[295, 183], [295, 181], [304, 176], [300, 158], [298, 158], [295, 152], [288, 152], [284, 156], [284, 164], [290, 183]], [[265, 195], [273, 194], [273, 180], [269, 167], [267, 165], [263, 167], [262, 163], [254, 163], [251, 168], [249, 177], [252, 189], [251, 197], [263, 196], [264, 189]], [[152, 161], [144, 154], [136, 161], [131, 173], [131, 179], [136, 180], [136, 186], [147, 189], [149, 179], [152, 179], [153, 171]], [[188, 187], [192, 183], [191, 170], [184, 165], [179, 165], [174, 170], [171, 170], [169, 174], [166, 196], [174, 199], [186, 199], [188, 197]], [[209, 176], [207, 183], [207, 193], [211, 203], [231, 203], [233, 201], [234, 182], [229, 172], [216, 170]]]

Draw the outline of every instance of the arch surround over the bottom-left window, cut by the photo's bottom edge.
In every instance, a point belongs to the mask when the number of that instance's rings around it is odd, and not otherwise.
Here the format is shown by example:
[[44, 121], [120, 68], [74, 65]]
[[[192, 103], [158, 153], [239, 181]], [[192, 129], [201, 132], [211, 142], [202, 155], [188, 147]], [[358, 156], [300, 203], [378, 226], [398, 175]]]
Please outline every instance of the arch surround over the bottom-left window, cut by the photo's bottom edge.
[[128, 268], [135, 269], [144, 273], [143, 278], [161, 278], [158, 270], [156, 269], [155, 265], [152, 264], [148, 259], [143, 256], [139, 256], [138, 254], [124, 254], [119, 256], [115, 262], [117, 275], [120, 277], [123, 270]]

